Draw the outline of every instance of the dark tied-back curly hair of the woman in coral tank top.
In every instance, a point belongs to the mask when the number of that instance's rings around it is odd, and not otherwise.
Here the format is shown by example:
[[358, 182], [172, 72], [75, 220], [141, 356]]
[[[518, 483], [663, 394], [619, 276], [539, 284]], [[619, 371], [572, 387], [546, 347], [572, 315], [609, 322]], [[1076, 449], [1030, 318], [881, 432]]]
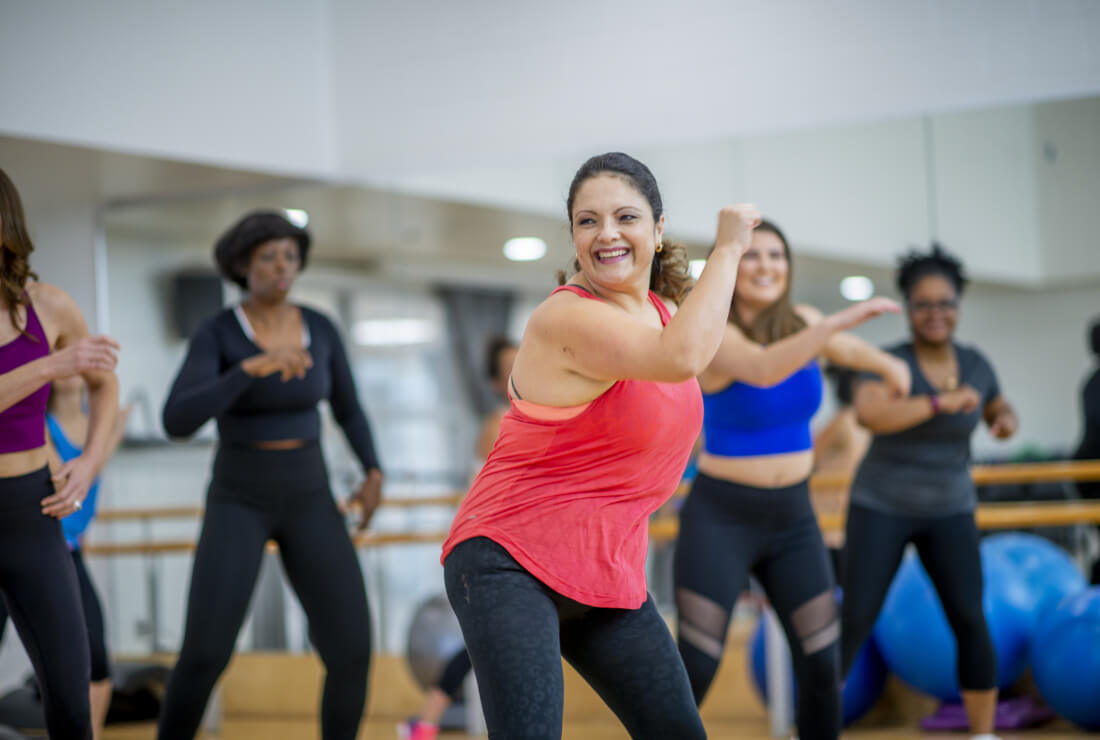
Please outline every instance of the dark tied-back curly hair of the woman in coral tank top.
[[[638, 162], [629, 154], [608, 152], [590, 157], [573, 175], [569, 186], [569, 197], [565, 199], [565, 213], [569, 217], [569, 230], [573, 231], [573, 200], [576, 191], [585, 181], [598, 175], [622, 177], [649, 202], [657, 222], [664, 213], [661, 202], [661, 191], [657, 187], [657, 178], [649, 167]], [[581, 272], [581, 263], [573, 261], [573, 274]], [[558, 283], [565, 284], [565, 273], [558, 273]], [[683, 244], [666, 241], [661, 251], [653, 258], [649, 268], [649, 289], [659, 296], [670, 299], [678, 306], [691, 290], [694, 280], [688, 259], [688, 247]]]

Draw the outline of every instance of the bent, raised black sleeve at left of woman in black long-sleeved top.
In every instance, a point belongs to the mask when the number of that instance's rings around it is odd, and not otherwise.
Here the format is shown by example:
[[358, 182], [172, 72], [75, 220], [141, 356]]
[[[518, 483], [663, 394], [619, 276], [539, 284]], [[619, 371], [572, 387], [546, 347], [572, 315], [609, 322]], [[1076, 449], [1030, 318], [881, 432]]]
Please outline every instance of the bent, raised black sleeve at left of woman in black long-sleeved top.
[[169, 437], [190, 437], [208, 419], [226, 411], [252, 384], [245, 363], [221, 371], [212, 322], [191, 338], [187, 357], [164, 402], [162, 421]]

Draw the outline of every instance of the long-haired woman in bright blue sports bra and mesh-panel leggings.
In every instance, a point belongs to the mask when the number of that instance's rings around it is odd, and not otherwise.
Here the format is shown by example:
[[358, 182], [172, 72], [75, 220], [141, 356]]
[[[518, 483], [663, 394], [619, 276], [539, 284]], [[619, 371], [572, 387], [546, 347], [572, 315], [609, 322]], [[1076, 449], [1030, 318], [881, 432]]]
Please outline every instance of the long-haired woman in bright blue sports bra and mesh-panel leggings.
[[821, 404], [818, 356], [872, 371], [909, 391], [908, 366], [844, 330], [897, 303], [872, 298], [824, 317], [791, 303], [791, 252], [772, 223], [741, 256], [722, 346], [700, 376], [703, 452], [680, 513], [678, 642], [695, 702], [706, 695], [729, 616], [751, 573], [791, 645], [802, 740], [840, 731], [839, 621], [833, 568], [813, 508], [810, 420]]

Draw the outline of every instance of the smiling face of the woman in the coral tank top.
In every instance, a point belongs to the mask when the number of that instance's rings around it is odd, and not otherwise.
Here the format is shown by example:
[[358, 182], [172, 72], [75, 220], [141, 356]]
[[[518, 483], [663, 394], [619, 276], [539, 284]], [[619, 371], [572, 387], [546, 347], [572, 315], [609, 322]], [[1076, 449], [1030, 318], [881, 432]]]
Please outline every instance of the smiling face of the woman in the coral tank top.
[[654, 223], [649, 201], [629, 179], [590, 177], [576, 190], [571, 218], [576, 259], [593, 286], [648, 289], [664, 217]]

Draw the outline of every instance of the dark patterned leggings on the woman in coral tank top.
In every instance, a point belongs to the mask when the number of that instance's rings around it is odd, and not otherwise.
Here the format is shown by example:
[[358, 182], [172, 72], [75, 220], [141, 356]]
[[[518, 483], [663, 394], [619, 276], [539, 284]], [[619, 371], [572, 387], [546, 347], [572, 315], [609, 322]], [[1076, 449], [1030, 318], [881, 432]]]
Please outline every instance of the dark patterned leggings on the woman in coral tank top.
[[580, 604], [536, 579], [486, 538], [460, 543], [443, 572], [491, 740], [560, 740], [562, 658], [631, 738], [706, 737], [652, 598], [638, 609]]

